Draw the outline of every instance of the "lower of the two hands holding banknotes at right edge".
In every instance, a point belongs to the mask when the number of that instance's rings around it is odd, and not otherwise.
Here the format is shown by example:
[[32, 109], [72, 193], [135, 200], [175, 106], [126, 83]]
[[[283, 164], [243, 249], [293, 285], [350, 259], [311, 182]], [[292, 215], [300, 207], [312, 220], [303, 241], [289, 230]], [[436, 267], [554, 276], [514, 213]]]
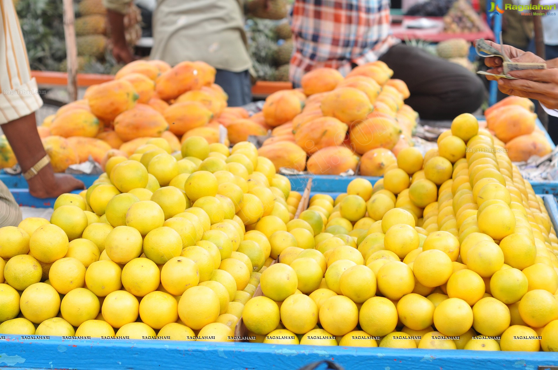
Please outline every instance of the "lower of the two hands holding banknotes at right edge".
[[536, 99], [546, 108], [558, 109], [558, 68], [512, 71], [519, 80], [500, 79], [498, 89], [504, 94]]

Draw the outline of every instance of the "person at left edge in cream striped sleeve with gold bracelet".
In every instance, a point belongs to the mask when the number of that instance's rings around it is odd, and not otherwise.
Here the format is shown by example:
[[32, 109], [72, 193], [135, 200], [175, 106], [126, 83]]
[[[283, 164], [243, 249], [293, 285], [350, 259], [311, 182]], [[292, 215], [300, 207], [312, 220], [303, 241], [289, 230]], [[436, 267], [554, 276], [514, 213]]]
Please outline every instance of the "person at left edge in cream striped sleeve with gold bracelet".
[[[42, 106], [37, 82], [31, 78], [25, 41], [12, 0], [0, 0], [0, 125], [27, 179], [39, 198], [57, 197], [83, 183], [67, 174], [55, 175], [37, 132], [35, 111]], [[0, 227], [17, 225], [21, 211], [0, 182]]]

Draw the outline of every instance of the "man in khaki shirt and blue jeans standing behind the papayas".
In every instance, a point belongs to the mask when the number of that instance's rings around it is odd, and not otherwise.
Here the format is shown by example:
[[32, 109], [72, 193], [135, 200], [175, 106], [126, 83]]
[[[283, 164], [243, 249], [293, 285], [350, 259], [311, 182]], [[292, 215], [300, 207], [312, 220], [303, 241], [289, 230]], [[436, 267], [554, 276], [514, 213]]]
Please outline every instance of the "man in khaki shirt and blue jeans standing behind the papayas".
[[[103, 0], [108, 11], [113, 55], [125, 63], [133, 60], [124, 37], [124, 13], [131, 0]], [[201, 60], [217, 69], [215, 83], [229, 95], [229, 106], [251, 103], [252, 66], [244, 34], [242, 0], [166, 0], [157, 2], [153, 13], [152, 59], [172, 66], [185, 60]], [[277, 19], [272, 3], [280, 0], [251, 0], [246, 11], [258, 17]], [[261, 10], [264, 10], [264, 14]], [[268, 15], [266, 16], [266, 9]], [[281, 15], [285, 17], [286, 11]]]

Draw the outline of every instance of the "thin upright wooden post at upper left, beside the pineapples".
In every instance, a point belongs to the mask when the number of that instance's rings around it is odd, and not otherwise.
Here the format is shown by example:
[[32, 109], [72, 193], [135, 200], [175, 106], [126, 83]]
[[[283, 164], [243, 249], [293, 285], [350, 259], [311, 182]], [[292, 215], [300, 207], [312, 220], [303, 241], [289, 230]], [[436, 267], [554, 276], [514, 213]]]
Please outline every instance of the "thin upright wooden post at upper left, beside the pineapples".
[[73, 0], [63, 0], [63, 3], [66, 65], [68, 66], [68, 103], [71, 103], [78, 100], [78, 47], [75, 42]]

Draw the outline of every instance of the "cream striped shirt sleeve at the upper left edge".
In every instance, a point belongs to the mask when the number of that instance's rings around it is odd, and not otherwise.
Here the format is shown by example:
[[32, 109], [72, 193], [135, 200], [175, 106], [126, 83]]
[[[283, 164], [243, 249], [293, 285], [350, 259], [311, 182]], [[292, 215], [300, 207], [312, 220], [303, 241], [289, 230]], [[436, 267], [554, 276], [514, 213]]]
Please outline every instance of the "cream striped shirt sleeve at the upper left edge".
[[39, 110], [42, 100], [31, 78], [25, 41], [12, 0], [0, 0], [0, 124]]

